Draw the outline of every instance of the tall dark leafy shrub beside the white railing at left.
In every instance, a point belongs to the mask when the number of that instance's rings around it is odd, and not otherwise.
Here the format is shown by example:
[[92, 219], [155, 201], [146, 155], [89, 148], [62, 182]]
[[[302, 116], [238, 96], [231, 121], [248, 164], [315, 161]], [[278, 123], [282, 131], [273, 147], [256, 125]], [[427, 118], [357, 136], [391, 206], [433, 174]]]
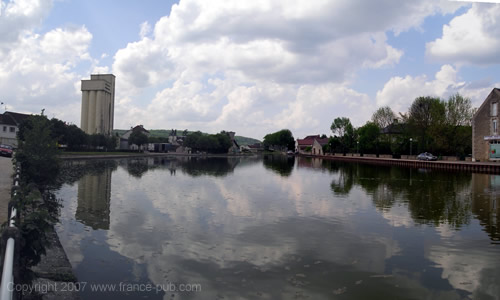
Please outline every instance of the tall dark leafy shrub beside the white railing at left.
[[[73, 269], [62, 248], [54, 225], [60, 216], [60, 200], [53, 193], [58, 189], [56, 178], [60, 171], [57, 141], [53, 122], [46, 116], [36, 115], [25, 120], [19, 127], [18, 149], [13, 165], [20, 168], [19, 186], [13, 195], [11, 205], [16, 209], [15, 227], [2, 230], [15, 230], [16, 242], [13, 271], [16, 285], [31, 285], [51, 280], [54, 284], [76, 282]], [[2, 245], [2, 249], [4, 245]], [[49, 297], [77, 299], [76, 292], [60, 294], [58, 291]], [[14, 299], [41, 299], [40, 291], [14, 290]]]

